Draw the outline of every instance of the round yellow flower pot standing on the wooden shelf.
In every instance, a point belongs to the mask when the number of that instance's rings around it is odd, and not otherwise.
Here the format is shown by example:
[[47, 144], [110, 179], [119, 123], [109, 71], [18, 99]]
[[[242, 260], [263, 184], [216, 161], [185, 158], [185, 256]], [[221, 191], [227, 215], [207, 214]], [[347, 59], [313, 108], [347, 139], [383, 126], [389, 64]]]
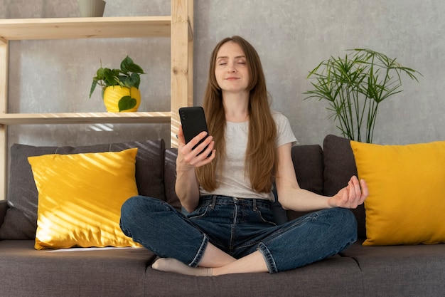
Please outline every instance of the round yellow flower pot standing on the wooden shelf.
[[104, 90], [104, 104], [109, 113], [131, 113], [141, 104], [141, 92], [137, 88], [111, 85]]

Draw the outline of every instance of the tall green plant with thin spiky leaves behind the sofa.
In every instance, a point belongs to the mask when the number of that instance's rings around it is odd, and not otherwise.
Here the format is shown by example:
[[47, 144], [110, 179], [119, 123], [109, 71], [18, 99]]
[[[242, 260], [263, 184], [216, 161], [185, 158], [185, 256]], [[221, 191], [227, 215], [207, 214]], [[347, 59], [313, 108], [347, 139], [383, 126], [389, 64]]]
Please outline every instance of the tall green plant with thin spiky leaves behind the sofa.
[[[333, 113], [330, 118], [338, 120], [338, 129], [350, 140], [372, 142], [375, 119], [379, 104], [391, 95], [402, 92], [401, 74], [417, 80], [422, 75], [367, 48], [355, 48], [345, 58], [322, 61], [307, 78], [313, 90], [307, 91], [308, 98], [328, 100]], [[365, 137], [363, 137], [363, 132]]]

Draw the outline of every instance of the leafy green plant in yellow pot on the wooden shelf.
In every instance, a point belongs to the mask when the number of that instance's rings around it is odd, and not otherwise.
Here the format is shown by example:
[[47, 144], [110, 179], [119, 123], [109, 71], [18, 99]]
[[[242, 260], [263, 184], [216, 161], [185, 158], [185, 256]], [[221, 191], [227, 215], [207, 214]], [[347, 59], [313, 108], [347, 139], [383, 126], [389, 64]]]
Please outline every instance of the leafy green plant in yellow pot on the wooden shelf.
[[121, 62], [120, 69], [103, 68], [102, 62], [92, 78], [90, 98], [97, 85], [102, 87], [102, 98], [109, 113], [137, 111], [141, 103], [139, 92], [142, 68], [129, 56]]

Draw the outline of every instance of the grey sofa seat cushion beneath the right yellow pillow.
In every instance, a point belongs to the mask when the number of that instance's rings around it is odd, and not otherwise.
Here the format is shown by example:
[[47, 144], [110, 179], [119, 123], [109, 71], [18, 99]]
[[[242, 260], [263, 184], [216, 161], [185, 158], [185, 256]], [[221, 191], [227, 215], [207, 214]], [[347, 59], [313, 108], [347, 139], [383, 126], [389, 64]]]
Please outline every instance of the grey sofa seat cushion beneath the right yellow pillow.
[[364, 293], [357, 296], [444, 296], [445, 244], [362, 244], [360, 239], [341, 252], [360, 267]]

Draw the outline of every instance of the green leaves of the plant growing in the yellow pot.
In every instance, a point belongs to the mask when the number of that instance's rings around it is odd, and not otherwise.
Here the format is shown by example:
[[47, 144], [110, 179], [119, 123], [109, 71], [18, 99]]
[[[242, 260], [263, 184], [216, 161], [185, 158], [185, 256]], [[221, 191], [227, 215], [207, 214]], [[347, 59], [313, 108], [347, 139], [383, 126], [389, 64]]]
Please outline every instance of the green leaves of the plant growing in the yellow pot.
[[[122, 60], [120, 69], [103, 68], [102, 62], [100, 68], [97, 69], [96, 76], [92, 78], [92, 85], [90, 89], [90, 98], [95, 91], [97, 85], [102, 87], [102, 97], [105, 88], [112, 85], [120, 85], [124, 88], [138, 88], [141, 83], [140, 75], [144, 74], [141, 66], [133, 62], [129, 56]], [[119, 100], [119, 110], [127, 110], [136, 105], [136, 100], [130, 96], [124, 96]]]

